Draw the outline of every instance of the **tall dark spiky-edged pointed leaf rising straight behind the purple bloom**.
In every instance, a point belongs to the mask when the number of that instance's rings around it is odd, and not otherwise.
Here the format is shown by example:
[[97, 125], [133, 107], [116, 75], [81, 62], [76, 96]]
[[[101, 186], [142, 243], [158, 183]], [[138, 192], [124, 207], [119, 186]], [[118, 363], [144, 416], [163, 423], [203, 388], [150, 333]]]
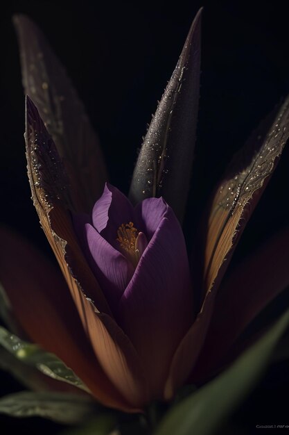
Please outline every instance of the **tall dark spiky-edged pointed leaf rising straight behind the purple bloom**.
[[175, 71], [166, 86], [143, 140], [130, 199], [136, 204], [147, 197], [163, 196], [182, 220], [189, 193], [200, 83], [199, 10]]

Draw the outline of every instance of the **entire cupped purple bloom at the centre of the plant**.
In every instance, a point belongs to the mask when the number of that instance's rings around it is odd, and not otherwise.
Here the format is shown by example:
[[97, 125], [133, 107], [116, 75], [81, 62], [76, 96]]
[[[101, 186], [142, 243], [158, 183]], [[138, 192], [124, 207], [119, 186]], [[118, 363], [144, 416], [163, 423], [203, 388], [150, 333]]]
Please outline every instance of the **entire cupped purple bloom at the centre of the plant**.
[[[137, 350], [150, 397], [164, 397], [171, 359], [193, 321], [186, 245], [173, 210], [162, 198], [145, 199], [133, 208], [107, 184], [94, 206], [93, 225], [84, 224], [81, 216], [74, 221], [116, 320]], [[126, 250], [120, 243], [125, 237], [133, 242], [123, 241]], [[136, 263], [130, 261], [134, 254]]]

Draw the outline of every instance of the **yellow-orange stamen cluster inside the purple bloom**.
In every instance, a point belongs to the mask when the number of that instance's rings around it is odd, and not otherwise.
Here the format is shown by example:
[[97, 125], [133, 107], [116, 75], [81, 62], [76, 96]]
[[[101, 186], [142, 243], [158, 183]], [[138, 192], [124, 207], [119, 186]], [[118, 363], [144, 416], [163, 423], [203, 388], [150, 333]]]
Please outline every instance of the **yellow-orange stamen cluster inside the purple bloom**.
[[117, 230], [117, 236], [116, 240], [119, 242], [121, 253], [136, 268], [143, 251], [148, 246], [145, 234], [134, 228], [133, 222], [129, 222], [128, 224], [121, 224]]

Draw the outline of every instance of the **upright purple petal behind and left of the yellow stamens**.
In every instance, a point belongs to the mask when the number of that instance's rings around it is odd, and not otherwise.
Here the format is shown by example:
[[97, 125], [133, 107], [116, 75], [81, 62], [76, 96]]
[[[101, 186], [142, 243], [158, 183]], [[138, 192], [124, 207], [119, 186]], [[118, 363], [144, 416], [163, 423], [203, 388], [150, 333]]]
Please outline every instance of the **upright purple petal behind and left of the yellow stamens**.
[[98, 199], [92, 211], [94, 228], [110, 245], [117, 246], [117, 230], [121, 224], [133, 222], [134, 209], [128, 198], [114, 186], [106, 183], [103, 195]]

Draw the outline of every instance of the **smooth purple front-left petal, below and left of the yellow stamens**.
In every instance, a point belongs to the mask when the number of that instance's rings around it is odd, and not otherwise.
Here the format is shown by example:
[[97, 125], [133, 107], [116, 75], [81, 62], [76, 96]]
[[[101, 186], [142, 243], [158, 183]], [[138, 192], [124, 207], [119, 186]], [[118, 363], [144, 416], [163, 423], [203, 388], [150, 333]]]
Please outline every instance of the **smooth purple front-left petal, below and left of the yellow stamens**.
[[91, 269], [107, 297], [110, 308], [114, 311], [132, 278], [134, 268], [119, 251], [100, 236], [92, 225], [85, 224], [85, 232], [87, 247], [92, 258]]

